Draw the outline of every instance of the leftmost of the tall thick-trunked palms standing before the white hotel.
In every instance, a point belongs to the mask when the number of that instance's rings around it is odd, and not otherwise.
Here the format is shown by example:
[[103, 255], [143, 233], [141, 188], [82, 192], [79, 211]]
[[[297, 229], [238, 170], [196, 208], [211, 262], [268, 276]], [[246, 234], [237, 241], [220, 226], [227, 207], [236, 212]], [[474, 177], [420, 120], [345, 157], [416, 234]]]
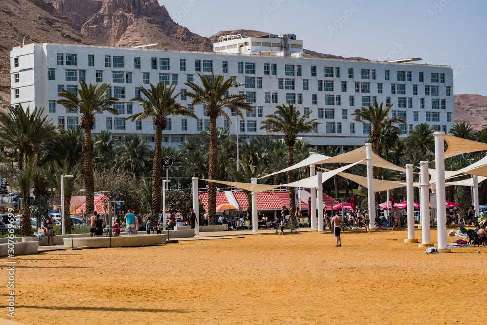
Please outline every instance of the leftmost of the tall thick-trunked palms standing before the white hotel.
[[84, 80], [79, 82], [79, 87], [76, 86], [77, 93], [73, 94], [67, 90], [62, 90], [59, 94], [60, 99], [58, 104], [63, 105], [67, 110], [76, 112], [81, 116], [79, 126], [85, 131], [83, 153], [84, 153], [84, 180], [85, 180], [85, 195], [86, 195], [86, 214], [90, 215], [93, 212], [93, 157], [92, 157], [92, 136], [91, 130], [95, 122], [95, 116], [98, 112], [109, 112], [118, 115], [118, 110], [113, 108], [113, 104], [118, 101], [118, 98], [107, 94], [107, 89], [110, 84], [96, 83], [95, 85], [87, 85]]

